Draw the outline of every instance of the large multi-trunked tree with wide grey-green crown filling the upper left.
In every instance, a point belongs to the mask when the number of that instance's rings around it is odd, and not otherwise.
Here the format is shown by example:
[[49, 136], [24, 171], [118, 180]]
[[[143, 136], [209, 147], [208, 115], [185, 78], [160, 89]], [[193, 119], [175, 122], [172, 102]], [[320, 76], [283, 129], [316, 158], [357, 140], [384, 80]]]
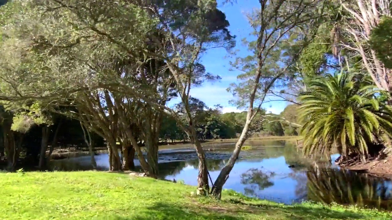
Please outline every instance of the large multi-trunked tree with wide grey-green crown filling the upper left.
[[[24, 59], [4, 61], [14, 65], [7, 67], [9, 74], [2, 75], [11, 82], [8, 84], [14, 94], [2, 99], [41, 99], [46, 103], [76, 106], [76, 112], [66, 114], [82, 121], [107, 141], [111, 170], [121, 170], [116, 153], [116, 142], [121, 135], [127, 135], [132, 146], [140, 150], [136, 139], [143, 134], [135, 137], [131, 126], [141, 126], [149, 132], [143, 137], [147, 140], [151, 166], [143, 162], [141, 151], [138, 156], [143, 169], [155, 175], [154, 165], [158, 160], [154, 139], [159, 131], [161, 111], [148, 108], [140, 97], [129, 98], [129, 93], [139, 92], [140, 96], [143, 94], [162, 105], [169, 97], [170, 83], [165, 79], [171, 78], [162, 71], [162, 59], [156, 60], [149, 54], [156, 48], [149, 47], [148, 42], [157, 34], [152, 30], [158, 21], [127, 1], [14, 1], [5, 5], [4, 12], [7, 28], [3, 31], [7, 41], [2, 48], [7, 54], [15, 55], [11, 58]], [[23, 41], [23, 47], [15, 39]], [[18, 68], [23, 68], [26, 74], [20, 74]], [[135, 117], [139, 108], [150, 109], [151, 113], [143, 114], [142, 124]], [[147, 129], [149, 126], [151, 129]]]

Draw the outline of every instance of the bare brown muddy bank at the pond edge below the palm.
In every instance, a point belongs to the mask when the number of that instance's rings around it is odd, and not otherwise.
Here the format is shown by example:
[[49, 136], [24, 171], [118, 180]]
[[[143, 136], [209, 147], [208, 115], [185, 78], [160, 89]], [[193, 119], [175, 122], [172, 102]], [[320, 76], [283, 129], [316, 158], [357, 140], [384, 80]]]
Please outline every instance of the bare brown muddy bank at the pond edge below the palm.
[[373, 159], [340, 167], [347, 170], [360, 171], [376, 177], [392, 179], [392, 155], [388, 155], [383, 159]]

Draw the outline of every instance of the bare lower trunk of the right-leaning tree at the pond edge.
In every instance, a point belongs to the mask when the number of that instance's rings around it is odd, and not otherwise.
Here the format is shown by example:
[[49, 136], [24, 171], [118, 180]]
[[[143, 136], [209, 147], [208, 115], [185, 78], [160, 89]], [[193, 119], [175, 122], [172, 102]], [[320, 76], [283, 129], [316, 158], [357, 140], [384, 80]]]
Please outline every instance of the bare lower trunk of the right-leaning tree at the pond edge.
[[236, 162], [238, 156], [240, 155], [241, 147], [243, 146], [244, 142], [247, 139], [247, 133], [249, 130], [250, 121], [251, 121], [251, 112], [249, 111], [247, 115], [247, 120], [245, 122], [244, 128], [242, 129], [241, 136], [236, 143], [236, 147], [234, 148], [233, 154], [231, 155], [225, 167], [223, 167], [222, 170], [220, 171], [218, 178], [215, 180], [214, 185], [212, 186], [211, 193], [216, 198], [219, 199], [221, 198], [223, 185], [225, 185], [226, 180], [229, 178], [229, 173], [233, 169], [234, 163]]

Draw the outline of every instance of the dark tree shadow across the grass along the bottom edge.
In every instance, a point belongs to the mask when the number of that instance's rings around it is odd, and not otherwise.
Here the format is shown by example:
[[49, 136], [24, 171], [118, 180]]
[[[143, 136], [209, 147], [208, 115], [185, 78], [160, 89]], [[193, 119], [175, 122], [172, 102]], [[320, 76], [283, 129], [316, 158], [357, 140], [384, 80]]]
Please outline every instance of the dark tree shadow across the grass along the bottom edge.
[[243, 206], [241, 206], [241, 208], [235, 205], [225, 207], [225, 203], [222, 203], [222, 206], [216, 206], [217, 204], [194, 204], [193, 206], [189, 206], [189, 204], [156, 203], [152, 206], [145, 207], [143, 211], [136, 211], [138, 214], [137, 216], [116, 216], [114, 217], [114, 220], [250, 220], [255, 217], [279, 220], [370, 219], [359, 213], [345, 210], [334, 211], [323, 207], [312, 208], [280, 205], [249, 206], [249, 204], [243, 202], [238, 202], [237, 204]]

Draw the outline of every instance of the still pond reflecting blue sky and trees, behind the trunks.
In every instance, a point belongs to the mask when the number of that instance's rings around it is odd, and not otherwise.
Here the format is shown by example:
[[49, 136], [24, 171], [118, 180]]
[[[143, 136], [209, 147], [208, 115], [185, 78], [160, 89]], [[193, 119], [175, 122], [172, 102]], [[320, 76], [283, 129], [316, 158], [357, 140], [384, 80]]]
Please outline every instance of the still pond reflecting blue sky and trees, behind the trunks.
[[[233, 189], [250, 197], [293, 204], [306, 200], [316, 202], [374, 207], [392, 210], [392, 182], [339, 169], [332, 155], [310, 161], [301, 150], [285, 141], [248, 142], [249, 150], [241, 151], [225, 189]], [[229, 159], [234, 144], [204, 146], [212, 180]], [[107, 154], [95, 156], [99, 170], [109, 170]], [[160, 176], [196, 185], [198, 160], [192, 148], [162, 150], [159, 154]], [[135, 164], [139, 164], [135, 160]], [[52, 160], [55, 170], [91, 170], [90, 157]], [[140, 170], [140, 167], [137, 168]]]

